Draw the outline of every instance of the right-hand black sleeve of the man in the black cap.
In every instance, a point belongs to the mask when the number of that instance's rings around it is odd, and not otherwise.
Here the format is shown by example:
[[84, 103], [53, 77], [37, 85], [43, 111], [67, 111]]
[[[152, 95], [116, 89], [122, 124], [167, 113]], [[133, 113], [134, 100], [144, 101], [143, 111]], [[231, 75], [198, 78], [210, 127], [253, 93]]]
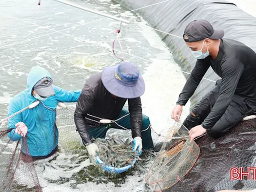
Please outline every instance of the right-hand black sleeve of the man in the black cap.
[[211, 113], [205, 118], [202, 126], [206, 130], [212, 127], [219, 121], [220, 117], [227, 110], [229, 103], [235, 93], [238, 81], [244, 71], [244, 65], [238, 59], [229, 59], [222, 63], [222, 80], [220, 95], [215, 102]]

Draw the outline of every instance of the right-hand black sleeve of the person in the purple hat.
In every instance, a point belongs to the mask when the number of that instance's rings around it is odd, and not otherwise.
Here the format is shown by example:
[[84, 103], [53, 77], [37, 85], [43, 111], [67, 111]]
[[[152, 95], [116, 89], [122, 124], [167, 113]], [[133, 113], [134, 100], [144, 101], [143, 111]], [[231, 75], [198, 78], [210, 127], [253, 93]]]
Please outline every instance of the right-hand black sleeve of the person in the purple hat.
[[141, 100], [139, 98], [128, 99], [132, 138], [141, 137], [142, 128], [142, 107]]

